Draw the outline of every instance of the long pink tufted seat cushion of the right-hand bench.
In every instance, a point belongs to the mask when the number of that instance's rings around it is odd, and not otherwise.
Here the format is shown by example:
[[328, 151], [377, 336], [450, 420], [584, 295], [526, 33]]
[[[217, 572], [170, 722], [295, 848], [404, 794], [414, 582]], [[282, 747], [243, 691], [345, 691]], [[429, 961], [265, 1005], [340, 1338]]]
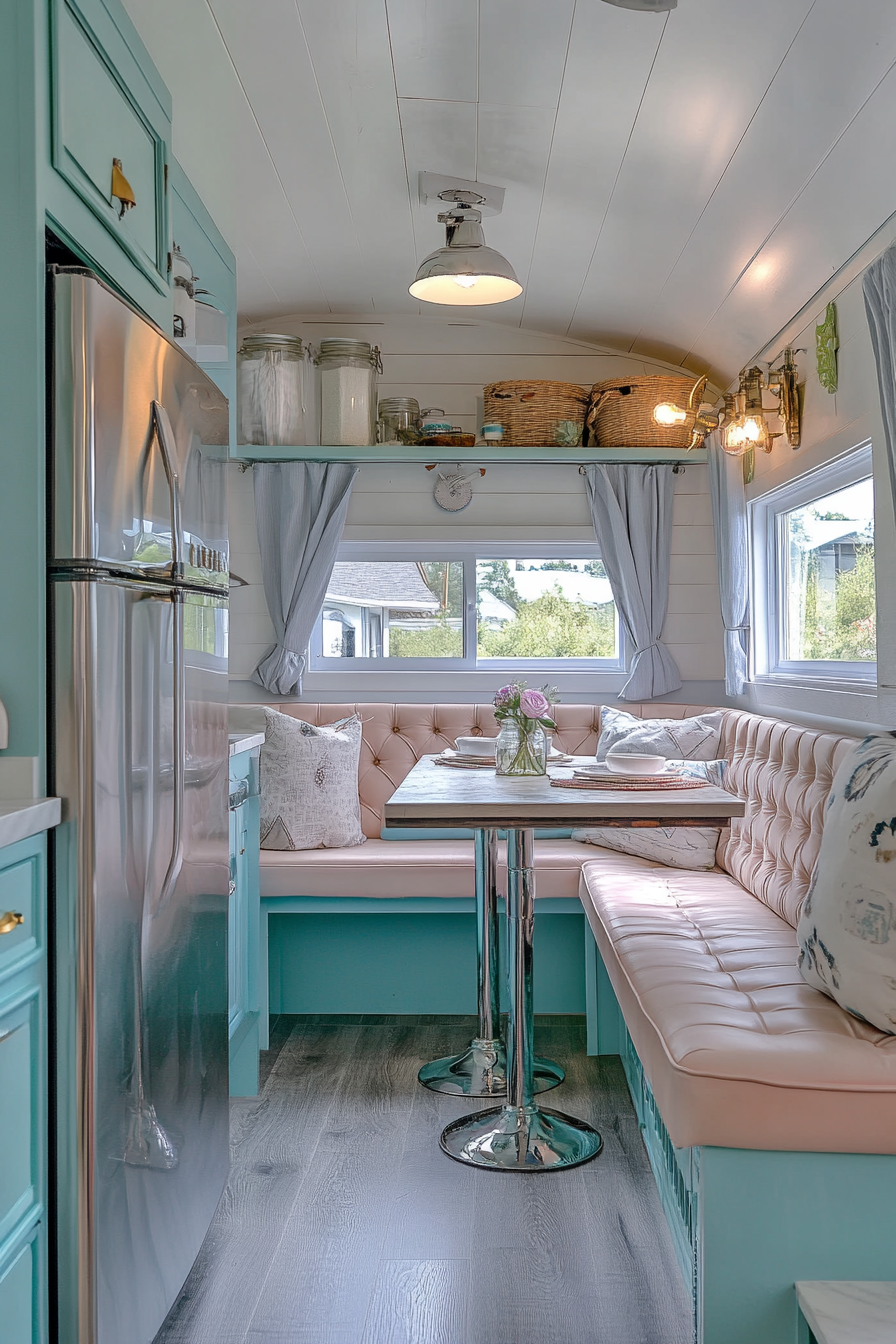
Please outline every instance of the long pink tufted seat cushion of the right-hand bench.
[[896, 1153], [896, 1038], [810, 988], [725, 872], [606, 855], [582, 902], [676, 1146]]

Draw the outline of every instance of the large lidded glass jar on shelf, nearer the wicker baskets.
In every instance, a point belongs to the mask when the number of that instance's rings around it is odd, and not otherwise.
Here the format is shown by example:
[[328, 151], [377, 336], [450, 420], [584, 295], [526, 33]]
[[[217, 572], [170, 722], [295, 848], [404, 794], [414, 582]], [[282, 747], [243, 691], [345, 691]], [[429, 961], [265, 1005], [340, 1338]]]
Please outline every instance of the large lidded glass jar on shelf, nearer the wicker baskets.
[[364, 448], [376, 442], [376, 375], [383, 372], [379, 345], [332, 337], [321, 341], [321, 444]]

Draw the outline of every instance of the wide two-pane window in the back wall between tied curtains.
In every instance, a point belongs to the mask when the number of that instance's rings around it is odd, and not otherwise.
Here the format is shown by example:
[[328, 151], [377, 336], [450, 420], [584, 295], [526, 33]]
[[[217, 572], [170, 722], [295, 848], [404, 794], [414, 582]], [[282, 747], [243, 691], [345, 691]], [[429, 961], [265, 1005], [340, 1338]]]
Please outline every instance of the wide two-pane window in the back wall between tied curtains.
[[619, 622], [588, 543], [344, 543], [312, 641], [321, 671], [621, 668]]

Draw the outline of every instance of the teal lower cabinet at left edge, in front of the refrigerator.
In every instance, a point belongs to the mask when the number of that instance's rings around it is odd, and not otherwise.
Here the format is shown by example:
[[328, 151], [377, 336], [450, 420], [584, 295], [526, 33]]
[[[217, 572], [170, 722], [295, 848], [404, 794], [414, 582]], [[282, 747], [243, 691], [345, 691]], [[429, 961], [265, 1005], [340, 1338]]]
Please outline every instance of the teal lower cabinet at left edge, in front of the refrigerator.
[[0, 1339], [47, 1340], [46, 836], [0, 849]]

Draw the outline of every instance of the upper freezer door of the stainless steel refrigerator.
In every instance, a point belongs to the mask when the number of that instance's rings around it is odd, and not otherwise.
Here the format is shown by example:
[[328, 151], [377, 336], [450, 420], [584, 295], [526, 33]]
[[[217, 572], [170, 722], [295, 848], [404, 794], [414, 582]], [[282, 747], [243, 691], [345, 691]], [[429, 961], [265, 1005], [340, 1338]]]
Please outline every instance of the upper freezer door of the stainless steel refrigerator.
[[227, 398], [90, 271], [51, 267], [50, 282], [52, 563], [226, 590]]

